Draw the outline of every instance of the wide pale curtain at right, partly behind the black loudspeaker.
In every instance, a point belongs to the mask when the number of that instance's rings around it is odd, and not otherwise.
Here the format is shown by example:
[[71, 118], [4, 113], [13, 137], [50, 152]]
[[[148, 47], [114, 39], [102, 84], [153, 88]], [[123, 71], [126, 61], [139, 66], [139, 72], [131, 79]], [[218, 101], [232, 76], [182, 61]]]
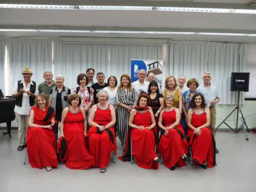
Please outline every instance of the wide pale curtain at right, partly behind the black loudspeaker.
[[[203, 83], [202, 75], [209, 71], [211, 83], [219, 91], [219, 104], [234, 105], [237, 92], [230, 91], [231, 73], [244, 72], [245, 51], [245, 45], [239, 43], [173, 41], [169, 46], [166, 76], [185, 75], [186, 80], [197, 78]], [[240, 103], [243, 104], [243, 93]]]

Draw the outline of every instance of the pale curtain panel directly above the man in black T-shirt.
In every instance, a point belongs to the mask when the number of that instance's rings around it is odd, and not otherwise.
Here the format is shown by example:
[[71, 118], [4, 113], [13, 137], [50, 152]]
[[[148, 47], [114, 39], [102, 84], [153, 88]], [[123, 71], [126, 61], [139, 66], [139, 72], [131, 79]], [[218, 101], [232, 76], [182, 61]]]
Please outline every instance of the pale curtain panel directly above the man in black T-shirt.
[[65, 77], [64, 84], [69, 88], [78, 86], [77, 75], [86, 73], [89, 67], [95, 69], [95, 75], [97, 72], [104, 72], [106, 78], [109, 75], [107, 45], [62, 43], [56, 40], [54, 58], [55, 75], [62, 74]]

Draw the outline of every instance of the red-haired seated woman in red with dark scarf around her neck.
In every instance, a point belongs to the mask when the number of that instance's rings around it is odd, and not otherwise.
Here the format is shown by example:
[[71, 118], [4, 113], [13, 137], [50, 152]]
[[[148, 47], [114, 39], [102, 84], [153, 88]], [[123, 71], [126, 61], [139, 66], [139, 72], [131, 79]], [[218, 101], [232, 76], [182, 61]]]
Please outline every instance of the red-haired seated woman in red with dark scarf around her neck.
[[[149, 95], [141, 93], [137, 100], [137, 106], [131, 110], [129, 118], [132, 151], [129, 151], [130, 142], [126, 142], [125, 154], [119, 159], [129, 160], [130, 152], [132, 152], [139, 167], [158, 169], [159, 158], [155, 151], [157, 140], [154, 135], [156, 123], [152, 110], [147, 107], [148, 104]], [[126, 140], [130, 141], [130, 139]]]

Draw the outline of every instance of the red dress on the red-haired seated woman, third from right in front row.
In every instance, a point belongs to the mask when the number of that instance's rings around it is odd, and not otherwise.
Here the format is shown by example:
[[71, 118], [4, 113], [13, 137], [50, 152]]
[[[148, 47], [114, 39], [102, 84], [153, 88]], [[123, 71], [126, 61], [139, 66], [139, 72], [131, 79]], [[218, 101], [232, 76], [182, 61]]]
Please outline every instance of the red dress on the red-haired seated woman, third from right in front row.
[[[151, 115], [149, 110], [142, 114], [136, 112], [134, 124], [137, 126], [149, 127], [151, 125]], [[158, 169], [158, 163], [153, 161], [157, 157], [155, 152], [154, 129], [131, 129], [132, 155], [137, 165], [144, 169]]]

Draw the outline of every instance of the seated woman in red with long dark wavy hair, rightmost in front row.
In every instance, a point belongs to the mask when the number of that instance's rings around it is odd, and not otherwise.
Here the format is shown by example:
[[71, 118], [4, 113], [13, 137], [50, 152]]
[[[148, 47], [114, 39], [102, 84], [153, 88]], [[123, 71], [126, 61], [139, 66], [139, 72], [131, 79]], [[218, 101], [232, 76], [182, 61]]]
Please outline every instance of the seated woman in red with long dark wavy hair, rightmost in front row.
[[193, 161], [202, 168], [213, 168], [215, 163], [215, 140], [209, 128], [210, 110], [205, 107], [204, 96], [195, 93], [188, 111], [189, 145], [192, 146]]

